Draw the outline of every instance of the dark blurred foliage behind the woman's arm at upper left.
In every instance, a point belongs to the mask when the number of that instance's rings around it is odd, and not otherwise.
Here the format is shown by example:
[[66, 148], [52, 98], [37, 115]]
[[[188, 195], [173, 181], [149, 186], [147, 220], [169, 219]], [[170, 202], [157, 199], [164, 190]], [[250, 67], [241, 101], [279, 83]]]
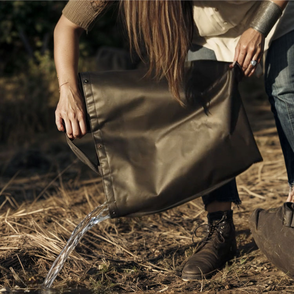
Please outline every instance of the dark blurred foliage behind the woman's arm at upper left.
[[[58, 82], [53, 32], [67, 1], [0, 1], [0, 143], [23, 143], [52, 128]], [[84, 33], [80, 69], [102, 45], [126, 48], [113, 6]], [[53, 111], [53, 114], [52, 114]]]

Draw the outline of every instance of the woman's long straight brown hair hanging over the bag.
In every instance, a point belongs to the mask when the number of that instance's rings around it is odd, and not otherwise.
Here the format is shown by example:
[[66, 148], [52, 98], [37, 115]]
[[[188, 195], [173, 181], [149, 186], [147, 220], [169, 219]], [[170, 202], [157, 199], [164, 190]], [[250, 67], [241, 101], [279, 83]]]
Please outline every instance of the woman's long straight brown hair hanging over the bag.
[[[166, 76], [169, 91], [183, 105], [184, 64], [193, 34], [191, 1], [121, 0], [120, 12], [130, 40], [138, 56], [149, 62], [147, 75]], [[142, 47], [143, 45], [143, 47]]]

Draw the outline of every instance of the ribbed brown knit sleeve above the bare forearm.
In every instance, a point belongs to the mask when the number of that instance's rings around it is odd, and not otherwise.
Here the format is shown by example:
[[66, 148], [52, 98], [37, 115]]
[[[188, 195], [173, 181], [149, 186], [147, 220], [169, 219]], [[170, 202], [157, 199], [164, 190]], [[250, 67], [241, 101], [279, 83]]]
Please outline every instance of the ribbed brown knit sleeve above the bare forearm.
[[62, 14], [77, 26], [90, 31], [97, 17], [113, 1], [107, 0], [70, 0]]

